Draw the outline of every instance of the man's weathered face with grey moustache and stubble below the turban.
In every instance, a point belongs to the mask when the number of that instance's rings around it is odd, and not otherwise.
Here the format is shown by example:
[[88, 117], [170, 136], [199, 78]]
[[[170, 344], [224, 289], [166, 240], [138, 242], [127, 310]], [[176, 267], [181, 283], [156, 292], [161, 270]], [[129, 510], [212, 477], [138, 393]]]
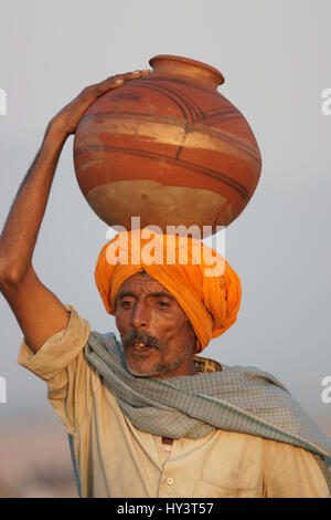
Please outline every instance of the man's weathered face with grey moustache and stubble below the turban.
[[145, 271], [116, 299], [116, 325], [131, 374], [157, 378], [195, 374], [195, 334], [177, 300]]

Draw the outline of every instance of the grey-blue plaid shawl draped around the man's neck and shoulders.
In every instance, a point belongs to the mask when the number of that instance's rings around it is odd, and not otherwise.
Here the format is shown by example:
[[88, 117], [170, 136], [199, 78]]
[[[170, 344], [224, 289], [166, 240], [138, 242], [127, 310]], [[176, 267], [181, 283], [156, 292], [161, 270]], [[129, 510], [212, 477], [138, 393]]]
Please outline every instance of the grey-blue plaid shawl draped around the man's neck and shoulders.
[[267, 372], [222, 364], [194, 377], [136, 377], [113, 332], [92, 331], [85, 356], [138, 429], [197, 439], [221, 428], [299, 446], [312, 453], [331, 492], [331, 440]]

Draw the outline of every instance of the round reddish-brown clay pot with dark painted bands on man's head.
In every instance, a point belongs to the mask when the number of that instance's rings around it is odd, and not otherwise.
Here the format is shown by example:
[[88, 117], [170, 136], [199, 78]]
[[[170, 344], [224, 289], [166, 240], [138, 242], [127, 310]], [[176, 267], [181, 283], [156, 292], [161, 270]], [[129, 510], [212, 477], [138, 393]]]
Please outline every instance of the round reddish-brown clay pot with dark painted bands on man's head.
[[228, 226], [257, 186], [261, 159], [224, 77], [188, 58], [157, 55], [152, 73], [97, 100], [79, 122], [74, 164], [109, 226]]

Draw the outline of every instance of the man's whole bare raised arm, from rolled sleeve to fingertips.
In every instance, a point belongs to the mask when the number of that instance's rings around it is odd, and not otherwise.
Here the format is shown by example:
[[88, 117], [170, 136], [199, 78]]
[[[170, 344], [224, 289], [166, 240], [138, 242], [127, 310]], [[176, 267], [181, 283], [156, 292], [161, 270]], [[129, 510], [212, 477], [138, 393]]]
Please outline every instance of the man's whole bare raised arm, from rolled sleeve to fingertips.
[[32, 256], [63, 145], [86, 110], [102, 95], [149, 70], [128, 72], [84, 89], [50, 122], [42, 146], [25, 175], [0, 236], [0, 291], [11, 306], [25, 341], [36, 353], [66, 327], [68, 313], [38, 278]]

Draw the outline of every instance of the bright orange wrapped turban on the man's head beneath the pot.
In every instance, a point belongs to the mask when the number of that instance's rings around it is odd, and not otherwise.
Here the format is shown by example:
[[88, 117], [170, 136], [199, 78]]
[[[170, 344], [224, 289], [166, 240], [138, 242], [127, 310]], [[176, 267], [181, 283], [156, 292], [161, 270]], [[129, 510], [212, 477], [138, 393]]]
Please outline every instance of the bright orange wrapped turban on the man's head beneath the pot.
[[119, 232], [102, 248], [95, 281], [109, 314], [116, 313], [120, 285], [142, 270], [181, 305], [195, 332], [197, 352], [236, 321], [241, 280], [227, 261], [201, 240], [147, 228]]

